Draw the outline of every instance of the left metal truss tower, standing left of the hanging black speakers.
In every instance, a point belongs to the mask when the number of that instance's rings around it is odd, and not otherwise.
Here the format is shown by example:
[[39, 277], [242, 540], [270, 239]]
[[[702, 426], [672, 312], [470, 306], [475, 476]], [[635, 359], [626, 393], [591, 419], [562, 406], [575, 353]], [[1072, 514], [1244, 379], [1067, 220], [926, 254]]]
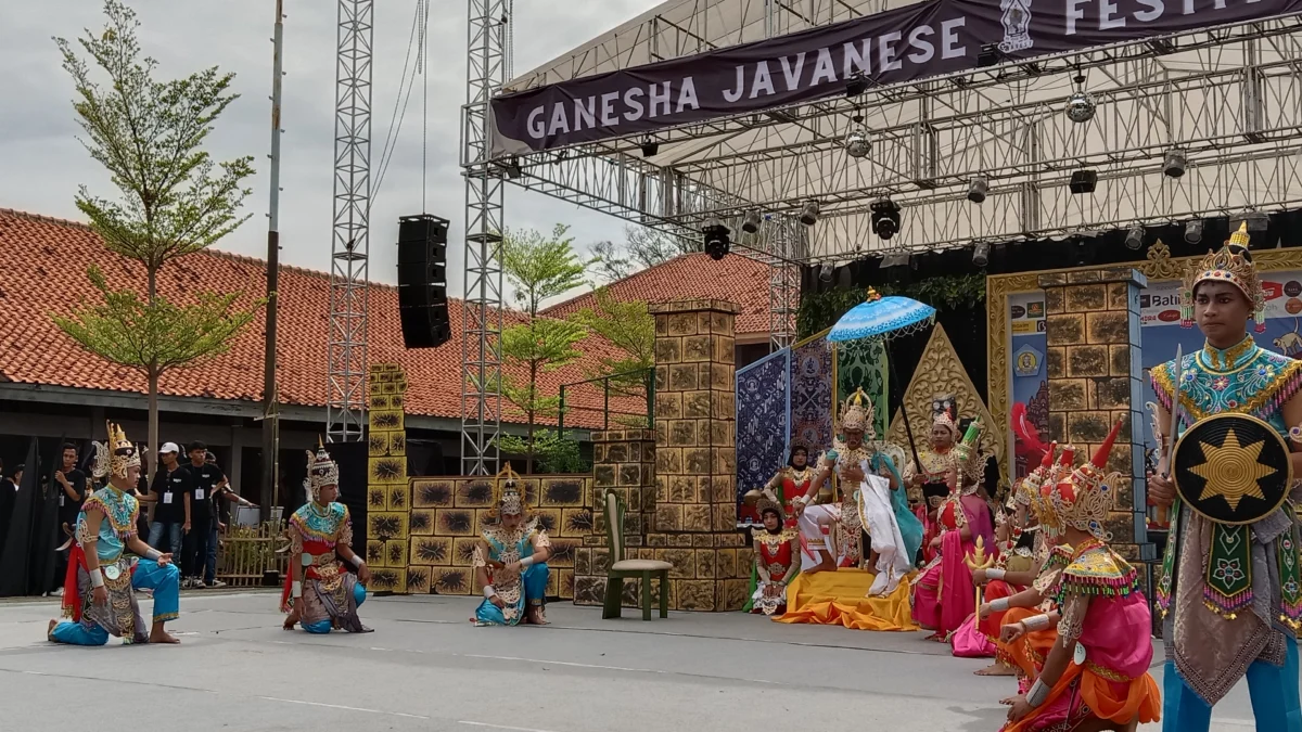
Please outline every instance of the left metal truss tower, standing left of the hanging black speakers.
[[372, 0], [339, 0], [335, 81], [335, 233], [329, 288], [326, 435], [361, 440], [366, 427], [367, 257], [371, 199]]

